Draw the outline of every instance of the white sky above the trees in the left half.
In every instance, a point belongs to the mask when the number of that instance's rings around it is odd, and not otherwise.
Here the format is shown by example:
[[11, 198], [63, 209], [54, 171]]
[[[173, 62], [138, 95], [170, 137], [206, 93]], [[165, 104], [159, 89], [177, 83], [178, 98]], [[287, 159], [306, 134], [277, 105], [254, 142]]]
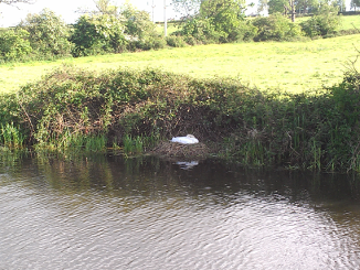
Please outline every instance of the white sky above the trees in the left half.
[[[139, 10], [146, 10], [150, 12], [152, 18], [152, 0], [131, 0], [130, 1]], [[113, 4], [121, 6], [124, 0], [113, 0]], [[155, 21], [163, 21], [163, 3], [165, 0], [153, 0], [153, 18]], [[167, 0], [167, 4], [170, 0]], [[93, 0], [36, 0], [34, 4], [19, 3], [15, 7], [10, 7], [4, 3], [0, 3], [0, 26], [15, 26], [21, 20], [24, 20], [28, 13], [40, 13], [41, 10], [47, 8], [54, 11], [56, 14], [65, 21], [65, 23], [74, 23], [81, 15], [76, 13], [78, 8], [91, 8], [95, 10]], [[176, 13], [169, 6], [167, 8], [167, 18], [174, 18]]]

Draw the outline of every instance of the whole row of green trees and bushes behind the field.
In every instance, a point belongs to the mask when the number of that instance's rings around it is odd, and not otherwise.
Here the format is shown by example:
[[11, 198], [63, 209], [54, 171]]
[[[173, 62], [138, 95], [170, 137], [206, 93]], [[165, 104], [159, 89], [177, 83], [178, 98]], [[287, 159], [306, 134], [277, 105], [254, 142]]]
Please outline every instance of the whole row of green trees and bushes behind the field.
[[333, 3], [321, 4], [310, 19], [298, 24], [284, 12], [246, 19], [243, 0], [172, 0], [176, 11], [186, 15], [178, 31], [163, 37], [149, 13], [129, 2], [120, 8], [109, 0], [95, 2], [97, 9], [80, 10], [83, 14], [72, 25], [44, 9], [29, 14], [15, 28], [0, 30], [0, 62], [158, 50], [167, 45], [288, 41], [331, 35], [340, 22]]

